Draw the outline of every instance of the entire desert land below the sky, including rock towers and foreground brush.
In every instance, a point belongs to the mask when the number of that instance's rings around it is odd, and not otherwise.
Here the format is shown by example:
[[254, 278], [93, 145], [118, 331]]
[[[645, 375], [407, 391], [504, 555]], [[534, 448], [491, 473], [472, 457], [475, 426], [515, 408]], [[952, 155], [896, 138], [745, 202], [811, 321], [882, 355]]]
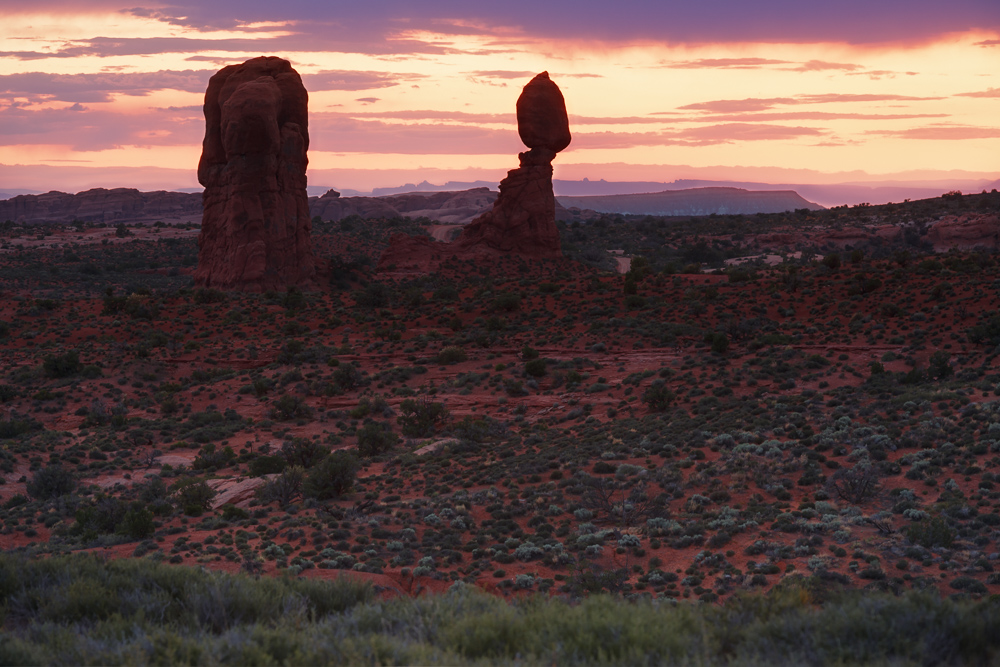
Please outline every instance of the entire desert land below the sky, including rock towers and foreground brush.
[[543, 72], [497, 189], [307, 197], [306, 100], [0, 201], [0, 661], [996, 659], [995, 187], [556, 195]]

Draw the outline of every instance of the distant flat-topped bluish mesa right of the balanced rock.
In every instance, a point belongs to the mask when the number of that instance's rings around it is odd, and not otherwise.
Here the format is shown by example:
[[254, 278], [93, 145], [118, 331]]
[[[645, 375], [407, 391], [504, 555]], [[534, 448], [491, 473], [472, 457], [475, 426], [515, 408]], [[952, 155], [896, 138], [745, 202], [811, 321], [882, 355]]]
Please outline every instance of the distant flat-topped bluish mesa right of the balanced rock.
[[806, 201], [792, 190], [750, 191], [741, 188], [692, 188], [635, 195], [556, 197], [556, 201], [566, 208], [632, 215], [749, 215], [823, 208]]

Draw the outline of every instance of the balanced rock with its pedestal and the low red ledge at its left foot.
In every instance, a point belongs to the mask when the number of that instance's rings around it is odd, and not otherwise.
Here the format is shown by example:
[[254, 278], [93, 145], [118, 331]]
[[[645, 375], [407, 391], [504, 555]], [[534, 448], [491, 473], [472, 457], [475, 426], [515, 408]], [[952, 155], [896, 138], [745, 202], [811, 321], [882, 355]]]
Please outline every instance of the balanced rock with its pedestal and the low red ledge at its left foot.
[[552, 160], [570, 142], [569, 117], [562, 93], [542, 72], [517, 100], [517, 131], [530, 149], [520, 167], [500, 182], [493, 208], [470, 222], [451, 244], [397, 235], [379, 259], [380, 270], [432, 271], [447, 258], [520, 255], [533, 259], [562, 256], [552, 194]]

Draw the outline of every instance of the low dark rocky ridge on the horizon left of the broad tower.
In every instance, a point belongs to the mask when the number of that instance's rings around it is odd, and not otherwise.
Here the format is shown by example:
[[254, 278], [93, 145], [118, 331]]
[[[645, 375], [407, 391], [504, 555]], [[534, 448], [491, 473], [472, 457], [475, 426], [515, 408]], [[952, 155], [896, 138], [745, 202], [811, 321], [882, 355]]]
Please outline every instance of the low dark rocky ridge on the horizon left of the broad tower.
[[75, 195], [53, 191], [0, 201], [0, 220], [20, 224], [195, 221], [200, 217], [200, 194], [162, 190], [94, 188]]

